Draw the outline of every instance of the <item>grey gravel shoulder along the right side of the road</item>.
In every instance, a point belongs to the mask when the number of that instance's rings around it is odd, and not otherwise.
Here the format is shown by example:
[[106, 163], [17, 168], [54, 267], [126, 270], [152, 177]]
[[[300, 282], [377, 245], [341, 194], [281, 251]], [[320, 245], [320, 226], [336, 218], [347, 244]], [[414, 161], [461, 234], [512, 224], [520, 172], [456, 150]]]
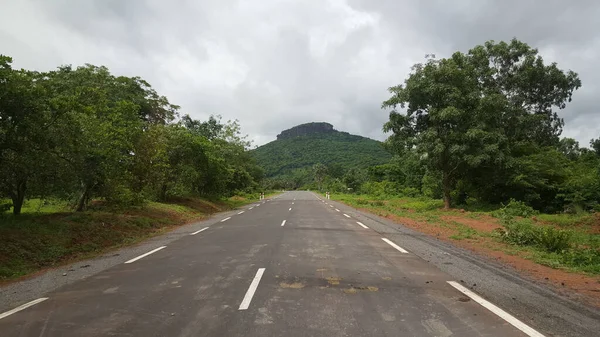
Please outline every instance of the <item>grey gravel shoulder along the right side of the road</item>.
[[598, 308], [560, 295], [551, 287], [524, 277], [512, 267], [493, 259], [440, 241], [389, 219], [339, 202], [330, 202], [339, 209], [351, 212], [356, 220], [432, 263], [456, 281], [546, 336], [598, 336]]

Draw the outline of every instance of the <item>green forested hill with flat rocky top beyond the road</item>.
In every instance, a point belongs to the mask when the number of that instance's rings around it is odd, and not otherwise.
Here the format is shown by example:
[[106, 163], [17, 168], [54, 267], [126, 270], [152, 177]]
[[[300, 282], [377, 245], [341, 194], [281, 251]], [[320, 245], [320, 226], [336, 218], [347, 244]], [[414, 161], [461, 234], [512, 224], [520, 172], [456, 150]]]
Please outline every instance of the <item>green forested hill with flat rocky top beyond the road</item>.
[[282, 131], [277, 140], [252, 151], [267, 177], [282, 176], [314, 164], [344, 169], [387, 163], [391, 154], [381, 142], [337, 131], [329, 123], [307, 123]]

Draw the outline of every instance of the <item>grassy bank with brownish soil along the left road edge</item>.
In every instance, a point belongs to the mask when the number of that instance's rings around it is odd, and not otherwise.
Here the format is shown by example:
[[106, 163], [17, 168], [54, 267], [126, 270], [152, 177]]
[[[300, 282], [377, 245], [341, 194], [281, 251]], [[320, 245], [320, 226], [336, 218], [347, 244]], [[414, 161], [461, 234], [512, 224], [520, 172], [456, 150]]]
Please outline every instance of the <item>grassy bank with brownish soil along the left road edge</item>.
[[75, 213], [66, 211], [64, 203], [39, 207], [39, 201], [31, 200], [20, 216], [0, 216], [0, 281], [90, 258], [254, 201], [179, 198], [125, 209], [100, 206]]

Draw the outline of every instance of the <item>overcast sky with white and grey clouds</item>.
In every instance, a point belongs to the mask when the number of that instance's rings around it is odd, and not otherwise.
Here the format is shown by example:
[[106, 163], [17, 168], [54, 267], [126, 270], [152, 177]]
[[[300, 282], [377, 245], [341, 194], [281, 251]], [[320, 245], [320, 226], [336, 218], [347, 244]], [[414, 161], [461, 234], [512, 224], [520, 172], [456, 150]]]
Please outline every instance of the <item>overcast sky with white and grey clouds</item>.
[[384, 139], [387, 88], [425, 54], [517, 37], [583, 87], [563, 135], [600, 136], [594, 0], [0, 0], [0, 54], [16, 67], [105, 65], [141, 76], [183, 113], [238, 119], [256, 145], [326, 121]]

